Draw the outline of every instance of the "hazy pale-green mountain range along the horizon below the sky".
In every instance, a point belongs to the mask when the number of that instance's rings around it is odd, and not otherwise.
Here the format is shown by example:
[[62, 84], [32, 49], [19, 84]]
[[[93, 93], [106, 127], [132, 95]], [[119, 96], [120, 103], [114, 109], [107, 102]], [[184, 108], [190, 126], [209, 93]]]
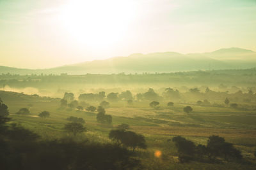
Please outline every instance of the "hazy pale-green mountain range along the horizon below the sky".
[[111, 74], [163, 73], [211, 69], [246, 69], [256, 66], [256, 52], [241, 48], [222, 48], [211, 53], [176, 52], [134, 53], [128, 57], [93, 60], [50, 69], [19, 69], [0, 66], [0, 73], [11, 74]]

